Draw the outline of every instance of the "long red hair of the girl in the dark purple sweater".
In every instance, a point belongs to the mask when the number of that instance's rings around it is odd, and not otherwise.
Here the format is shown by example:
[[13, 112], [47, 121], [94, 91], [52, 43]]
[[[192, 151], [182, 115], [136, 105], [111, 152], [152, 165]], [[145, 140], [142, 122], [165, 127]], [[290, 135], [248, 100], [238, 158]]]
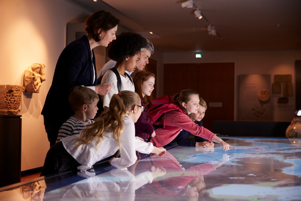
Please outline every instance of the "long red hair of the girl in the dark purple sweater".
[[148, 104], [153, 100], [152, 94], [151, 96], [142, 96], [142, 87], [141, 85], [147, 81], [150, 77], [155, 78], [155, 74], [147, 71], [139, 71], [135, 74], [133, 82], [135, 86], [135, 91], [139, 94], [140, 98], [142, 99], [145, 106], [148, 106]]

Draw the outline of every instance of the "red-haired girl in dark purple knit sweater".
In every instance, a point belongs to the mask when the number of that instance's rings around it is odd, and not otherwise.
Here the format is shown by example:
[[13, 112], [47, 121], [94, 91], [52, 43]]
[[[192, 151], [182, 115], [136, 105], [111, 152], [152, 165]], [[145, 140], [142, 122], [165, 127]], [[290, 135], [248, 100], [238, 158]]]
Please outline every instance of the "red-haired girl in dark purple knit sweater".
[[135, 135], [146, 140], [147, 137], [155, 137], [155, 129], [149, 124], [147, 106], [152, 101], [152, 92], [155, 85], [155, 75], [147, 71], [139, 71], [135, 74], [133, 79], [136, 92], [141, 98], [141, 105], [144, 110], [135, 123]]

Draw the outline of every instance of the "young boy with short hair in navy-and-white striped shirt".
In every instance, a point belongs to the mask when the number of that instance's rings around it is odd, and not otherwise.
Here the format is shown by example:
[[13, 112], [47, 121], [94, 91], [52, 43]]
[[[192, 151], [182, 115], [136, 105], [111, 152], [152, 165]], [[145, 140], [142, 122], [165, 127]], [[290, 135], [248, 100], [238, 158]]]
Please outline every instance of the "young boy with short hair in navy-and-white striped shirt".
[[85, 86], [74, 86], [69, 94], [69, 104], [74, 111], [71, 116], [61, 127], [58, 133], [58, 143], [62, 138], [70, 135], [79, 135], [79, 133], [88, 125], [98, 110], [97, 103], [99, 97], [97, 93]]

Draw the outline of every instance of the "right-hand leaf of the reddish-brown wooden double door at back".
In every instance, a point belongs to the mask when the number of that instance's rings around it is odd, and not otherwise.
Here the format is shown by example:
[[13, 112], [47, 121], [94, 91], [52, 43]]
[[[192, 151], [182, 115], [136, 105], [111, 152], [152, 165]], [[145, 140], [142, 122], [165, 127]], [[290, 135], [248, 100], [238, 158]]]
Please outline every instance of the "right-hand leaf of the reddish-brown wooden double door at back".
[[213, 121], [234, 120], [234, 63], [199, 65], [198, 93], [207, 103], [203, 125], [213, 130]]

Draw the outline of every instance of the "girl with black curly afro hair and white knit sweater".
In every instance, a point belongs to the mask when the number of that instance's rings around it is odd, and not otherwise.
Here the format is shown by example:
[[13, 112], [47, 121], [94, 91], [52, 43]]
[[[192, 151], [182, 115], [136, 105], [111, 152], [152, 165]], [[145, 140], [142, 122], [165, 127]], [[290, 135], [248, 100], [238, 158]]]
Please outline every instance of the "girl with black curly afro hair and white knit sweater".
[[[120, 91], [129, 90], [135, 92], [132, 78], [125, 71], [132, 72], [137, 67], [141, 56], [141, 49], [147, 44], [146, 38], [138, 33], [124, 32], [117, 36], [108, 50], [108, 56], [116, 61], [114, 68], [117, 69], [121, 78]], [[117, 77], [113, 71], [108, 70], [101, 80], [101, 83], [110, 83], [112, 88], [107, 95], [102, 97], [104, 111], [108, 110], [113, 94], [118, 93]]]

